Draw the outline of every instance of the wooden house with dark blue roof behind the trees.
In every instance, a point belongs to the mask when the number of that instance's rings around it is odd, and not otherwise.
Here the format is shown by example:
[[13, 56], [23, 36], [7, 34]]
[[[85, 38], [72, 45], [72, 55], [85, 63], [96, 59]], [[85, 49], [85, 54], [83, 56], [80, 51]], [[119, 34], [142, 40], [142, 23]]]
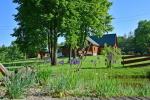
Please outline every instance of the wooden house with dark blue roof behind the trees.
[[87, 37], [87, 41], [90, 45], [87, 49], [87, 55], [96, 56], [100, 54], [105, 44], [112, 47], [118, 47], [116, 34], [105, 34], [102, 37], [89, 36]]

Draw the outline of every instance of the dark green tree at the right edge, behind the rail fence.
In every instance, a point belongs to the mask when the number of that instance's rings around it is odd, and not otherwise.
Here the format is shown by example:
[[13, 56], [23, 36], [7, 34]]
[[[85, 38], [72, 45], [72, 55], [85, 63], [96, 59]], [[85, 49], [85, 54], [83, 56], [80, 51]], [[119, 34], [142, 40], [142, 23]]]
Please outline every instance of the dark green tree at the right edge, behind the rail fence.
[[150, 21], [143, 20], [138, 23], [135, 30], [136, 51], [143, 53], [150, 52]]

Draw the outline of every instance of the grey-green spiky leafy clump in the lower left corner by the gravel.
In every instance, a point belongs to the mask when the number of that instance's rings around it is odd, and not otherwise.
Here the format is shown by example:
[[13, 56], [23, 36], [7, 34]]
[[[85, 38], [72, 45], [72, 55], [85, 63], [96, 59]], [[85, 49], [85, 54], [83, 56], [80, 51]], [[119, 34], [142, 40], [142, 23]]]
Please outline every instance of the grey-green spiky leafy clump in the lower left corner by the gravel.
[[[24, 75], [24, 76], [23, 76]], [[7, 89], [7, 95], [11, 99], [21, 98], [27, 88], [32, 86], [35, 81], [34, 73], [18, 73], [16, 75], [11, 76], [10, 78], [5, 78], [5, 87]]]

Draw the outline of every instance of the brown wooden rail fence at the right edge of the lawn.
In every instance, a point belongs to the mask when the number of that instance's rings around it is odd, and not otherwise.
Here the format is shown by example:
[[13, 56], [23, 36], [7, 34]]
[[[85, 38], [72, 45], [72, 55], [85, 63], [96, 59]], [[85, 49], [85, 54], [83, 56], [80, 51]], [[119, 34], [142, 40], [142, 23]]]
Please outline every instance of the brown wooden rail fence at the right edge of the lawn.
[[123, 56], [121, 64], [125, 67], [143, 67], [150, 65], [150, 55]]

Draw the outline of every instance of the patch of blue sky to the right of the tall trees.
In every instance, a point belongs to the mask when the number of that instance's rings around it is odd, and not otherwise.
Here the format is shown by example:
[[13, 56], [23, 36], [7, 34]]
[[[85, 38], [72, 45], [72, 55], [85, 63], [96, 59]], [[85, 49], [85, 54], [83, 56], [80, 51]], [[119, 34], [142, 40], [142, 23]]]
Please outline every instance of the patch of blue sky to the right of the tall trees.
[[140, 20], [150, 19], [150, 0], [111, 0], [113, 6], [110, 13], [115, 18], [112, 21], [113, 33], [118, 35], [134, 32]]

